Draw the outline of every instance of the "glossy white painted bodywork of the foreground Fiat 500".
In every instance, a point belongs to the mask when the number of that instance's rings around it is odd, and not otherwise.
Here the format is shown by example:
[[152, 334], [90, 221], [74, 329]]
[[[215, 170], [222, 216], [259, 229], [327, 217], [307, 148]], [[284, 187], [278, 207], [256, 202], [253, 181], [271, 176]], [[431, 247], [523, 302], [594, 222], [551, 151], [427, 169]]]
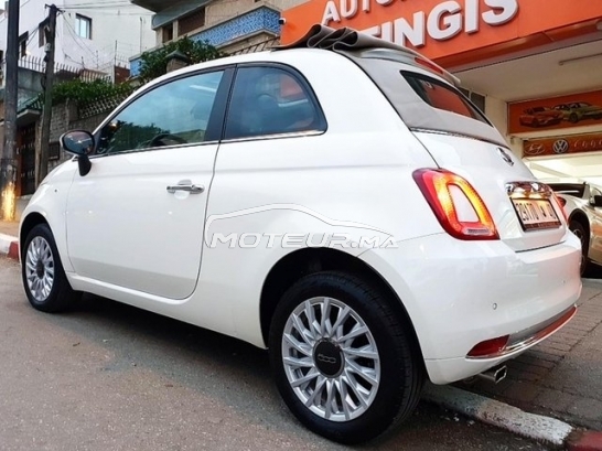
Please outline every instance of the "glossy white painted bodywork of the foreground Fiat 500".
[[[502, 359], [465, 355], [483, 340], [519, 332], [577, 301], [578, 239], [566, 224], [523, 232], [505, 191], [508, 182], [535, 181], [520, 160], [510, 165], [497, 146], [475, 139], [413, 133], [364, 72], [333, 52], [250, 54], [179, 74], [241, 62], [295, 67], [312, 86], [327, 130], [101, 157], [83, 178], [76, 161], [66, 162], [23, 218], [47, 218], [75, 290], [265, 346], [261, 290], [275, 265], [297, 249], [278, 237], [271, 247], [208, 247], [203, 233], [343, 232], [358, 240], [365, 230], [341, 229], [294, 208], [219, 218], [211, 230], [204, 223], [211, 215], [294, 204], [394, 237], [397, 248], [338, 250], [369, 265], [395, 290], [434, 383], [495, 365]], [[416, 169], [438, 167], [475, 186], [501, 239], [462, 241], [443, 232], [412, 179]], [[184, 179], [205, 192], [165, 191]]]

